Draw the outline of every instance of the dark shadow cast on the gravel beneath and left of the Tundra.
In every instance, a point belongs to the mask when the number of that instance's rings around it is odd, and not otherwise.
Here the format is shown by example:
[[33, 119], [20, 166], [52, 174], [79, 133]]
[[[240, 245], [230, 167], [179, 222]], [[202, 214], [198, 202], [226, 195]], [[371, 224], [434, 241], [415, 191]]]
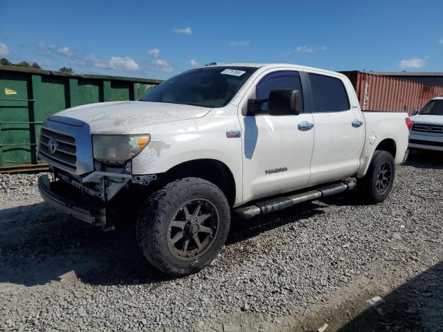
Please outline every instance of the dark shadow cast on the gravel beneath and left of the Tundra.
[[[323, 213], [316, 207], [307, 203], [249, 221], [233, 219], [226, 246]], [[0, 210], [0, 266], [0, 282], [25, 286], [57, 280], [149, 285], [173, 279], [147, 263], [136, 244], [134, 221], [102, 232], [46, 203]]]

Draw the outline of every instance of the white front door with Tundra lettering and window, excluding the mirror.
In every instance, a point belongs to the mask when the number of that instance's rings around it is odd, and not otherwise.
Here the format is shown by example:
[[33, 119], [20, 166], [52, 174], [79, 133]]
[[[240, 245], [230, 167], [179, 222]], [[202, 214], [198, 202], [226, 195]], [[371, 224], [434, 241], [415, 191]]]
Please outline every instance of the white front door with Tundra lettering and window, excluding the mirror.
[[305, 76], [298, 71], [273, 71], [259, 78], [249, 98], [267, 99], [272, 90], [290, 89], [300, 93], [300, 114], [271, 116], [267, 103], [262, 111], [245, 116], [242, 104], [243, 201], [283, 194], [307, 186], [314, 123], [309, 105], [303, 102]]

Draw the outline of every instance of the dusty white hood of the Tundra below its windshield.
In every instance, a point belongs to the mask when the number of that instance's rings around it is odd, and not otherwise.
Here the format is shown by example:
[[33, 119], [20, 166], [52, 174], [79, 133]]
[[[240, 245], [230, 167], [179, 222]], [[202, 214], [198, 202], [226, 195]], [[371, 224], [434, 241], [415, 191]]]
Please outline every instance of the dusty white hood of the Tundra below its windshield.
[[91, 133], [120, 134], [151, 124], [201, 118], [210, 110], [165, 102], [100, 102], [66, 109], [50, 120], [66, 124], [81, 120], [89, 124]]

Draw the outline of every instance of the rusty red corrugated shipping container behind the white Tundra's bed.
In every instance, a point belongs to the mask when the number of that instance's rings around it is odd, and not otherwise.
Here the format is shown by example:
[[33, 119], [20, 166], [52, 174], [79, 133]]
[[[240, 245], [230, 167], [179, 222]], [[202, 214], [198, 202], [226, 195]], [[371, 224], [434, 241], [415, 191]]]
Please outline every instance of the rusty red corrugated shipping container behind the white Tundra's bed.
[[423, 84], [393, 77], [341, 71], [352, 82], [363, 111], [406, 112], [421, 109], [431, 98], [443, 95], [443, 86]]

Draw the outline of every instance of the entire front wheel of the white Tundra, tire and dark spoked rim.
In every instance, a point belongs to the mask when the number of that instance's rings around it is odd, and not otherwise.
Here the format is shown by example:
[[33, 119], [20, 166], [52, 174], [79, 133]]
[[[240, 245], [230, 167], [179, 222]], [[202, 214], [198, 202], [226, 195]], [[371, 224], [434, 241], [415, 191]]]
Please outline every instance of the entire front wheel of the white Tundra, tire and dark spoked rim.
[[170, 275], [195, 273], [218, 255], [228, 237], [226, 196], [201, 178], [181, 178], [154, 192], [137, 222], [137, 240], [150, 263]]

